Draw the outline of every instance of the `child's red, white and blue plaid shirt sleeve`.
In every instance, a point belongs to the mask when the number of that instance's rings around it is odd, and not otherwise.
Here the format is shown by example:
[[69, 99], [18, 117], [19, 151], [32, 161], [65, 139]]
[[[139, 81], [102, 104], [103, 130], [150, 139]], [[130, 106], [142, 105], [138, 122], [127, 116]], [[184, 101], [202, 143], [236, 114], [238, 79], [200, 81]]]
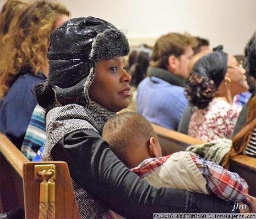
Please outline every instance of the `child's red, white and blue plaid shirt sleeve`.
[[191, 155], [197, 168], [206, 179], [206, 189], [225, 201], [243, 199], [248, 194], [248, 185], [237, 173], [201, 157]]

